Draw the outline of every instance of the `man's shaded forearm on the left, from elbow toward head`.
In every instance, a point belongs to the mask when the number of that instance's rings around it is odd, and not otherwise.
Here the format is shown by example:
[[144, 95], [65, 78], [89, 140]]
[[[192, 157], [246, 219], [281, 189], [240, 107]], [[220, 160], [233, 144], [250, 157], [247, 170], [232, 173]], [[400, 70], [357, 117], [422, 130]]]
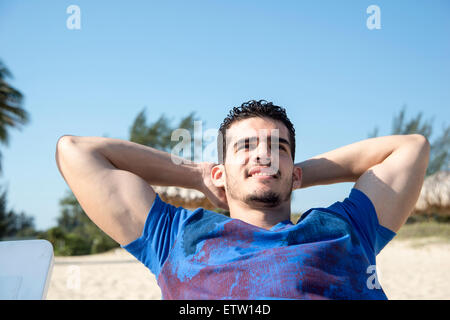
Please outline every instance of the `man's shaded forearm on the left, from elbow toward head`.
[[[199, 189], [201, 169], [196, 163], [170, 153], [127, 140], [102, 137], [72, 137], [74, 144], [94, 152], [114, 167], [132, 172], [148, 184]], [[173, 160], [179, 160], [176, 164]], [[183, 161], [181, 161], [183, 160]]]

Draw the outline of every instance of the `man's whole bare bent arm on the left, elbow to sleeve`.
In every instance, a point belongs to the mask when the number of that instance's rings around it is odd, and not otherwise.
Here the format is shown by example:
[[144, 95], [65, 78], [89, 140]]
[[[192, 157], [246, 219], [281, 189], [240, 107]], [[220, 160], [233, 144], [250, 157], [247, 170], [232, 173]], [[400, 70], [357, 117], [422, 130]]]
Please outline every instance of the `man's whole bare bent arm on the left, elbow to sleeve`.
[[201, 189], [201, 168], [130, 141], [63, 136], [58, 168], [89, 218], [118, 243], [137, 239], [156, 194], [150, 184]]

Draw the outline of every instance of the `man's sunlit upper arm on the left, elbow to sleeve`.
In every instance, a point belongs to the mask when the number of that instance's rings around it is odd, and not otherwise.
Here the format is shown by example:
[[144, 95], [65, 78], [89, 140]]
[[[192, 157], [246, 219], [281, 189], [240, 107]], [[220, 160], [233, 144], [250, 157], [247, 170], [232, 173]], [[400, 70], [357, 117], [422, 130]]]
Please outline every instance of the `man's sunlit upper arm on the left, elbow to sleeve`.
[[75, 147], [70, 137], [58, 142], [56, 159], [81, 207], [100, 229], [121, 245], [141, 235], [156, 197], [150, 185], [102, 155]]

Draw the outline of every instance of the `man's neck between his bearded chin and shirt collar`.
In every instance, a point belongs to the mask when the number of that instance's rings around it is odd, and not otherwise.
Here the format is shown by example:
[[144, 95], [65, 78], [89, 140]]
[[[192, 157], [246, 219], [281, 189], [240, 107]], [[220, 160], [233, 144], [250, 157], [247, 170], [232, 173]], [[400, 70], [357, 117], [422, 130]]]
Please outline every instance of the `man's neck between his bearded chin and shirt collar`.
[[228, 201], [230, 208], [230, 217], [239, 219], [251, 225], [269, 230], [277, 223], [290, 220], [291, 204], [285, 201], [276, 207], [264, 207], [256, 205], [248, 205], [240, 200]]

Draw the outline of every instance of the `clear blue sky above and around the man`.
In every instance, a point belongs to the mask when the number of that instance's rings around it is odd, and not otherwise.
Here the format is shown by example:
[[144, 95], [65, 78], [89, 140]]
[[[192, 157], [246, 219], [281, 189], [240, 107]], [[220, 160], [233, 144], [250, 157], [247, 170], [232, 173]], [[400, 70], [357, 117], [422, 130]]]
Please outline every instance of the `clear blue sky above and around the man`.
[[[81, 29], [69, 30], [69, 5]], [[369, 5], [381, 29], [369, 30]], [[175, 120], [196, 111], [218, 128], [232, 106], [266, 99], [297, 131], [296, 161], [362, 139], [392, 118], [450, 119], [450, 2], [0, 2], [0, 59], [31, 122], [1, 147], [9, 207], [56, 225], [68, 190], [57, 170], [63, 134], [127, 139], [137, 113]], [[432, 136], [433, 138], [433, 136]], [[295, 192], [304, 211], [343, 200], [351, 183]]]

